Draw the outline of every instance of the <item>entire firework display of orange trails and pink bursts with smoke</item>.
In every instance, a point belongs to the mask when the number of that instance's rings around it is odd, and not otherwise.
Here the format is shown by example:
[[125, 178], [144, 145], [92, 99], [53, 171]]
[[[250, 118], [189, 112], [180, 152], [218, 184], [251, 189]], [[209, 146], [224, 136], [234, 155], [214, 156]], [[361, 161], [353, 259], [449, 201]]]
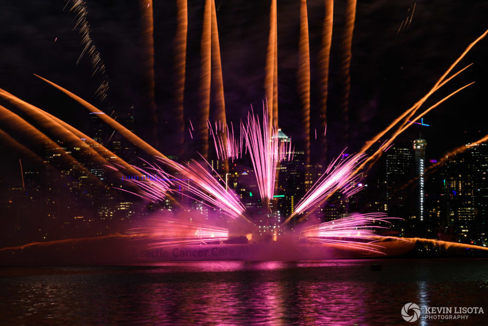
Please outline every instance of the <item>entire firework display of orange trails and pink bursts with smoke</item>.
[[[69, 11], [76, 15], [75, 28], [79, 29], [82, 38], [83, 50], [77, 64], [86, 53], [89, 56], [93, 74], [102, 75], [102, 84], [96, 91], [96, 96], [104, 104], [108, 102], [107, 70], [92, 39], [86, 2], [67, 1], [66, 5], [69, 5]], [[343, 128], [344, 143], [337, 146], [344, 146], [341, 147], [342, 152], [330, 160], [332, 155], [327, 154], [325, 136], [327, 124], [330, 123], [327, 120], [327, 98], [330, 95], [329, 68], [334, 18], [333, 1], [325, 1], [322, 44], [318, 55], [320, 65], [318, 74], [320, 83], [316, 87], [320, 89], [318, 108], [311, 105], [315, 101], [311, 95], [315, 86], [312, 83], [314, 77], [310, 62], [313, 59], [309, 40], [309, 33], [312, 33], [308, 22], [310, 13], [307, 11], [306, 0], [301, 0], [299, 3], [298, 53], [296, 56], [298, 68], [295, 74], [299, 107], [289, 109], [290, 111], [296, 109], [299, 112], [297, 116], [300, 119], [297, 124], [301, 126], [298, 133], [301, 139], [298, 140], [299, 145], [297, 146], [295, 140], [292, 142], [290, 138], [284, 136], [278, 120], [279, 12], [277, 1], [271, 0], [269, 5], [269, 31], [263, 69], [264, 87], [262, 96], [257, 95], [258, 98], [263, 98], [263, 109], [262, 112], [256, 113], [251, 105], [249, 112], [244, 118], [241, 116], [239, 121], [231, 121], [228, 118], [231, 111], [228, 108], [229, 105], [226, 106], [226, 97], [224, 97], [224, 94], [227, 93], [224, 92], [223, 66], [225, 64], [221, 61], [221, 41], [218, 31], [219, 9], [214, 0], [205, 0], [202, 7], [202, 29], [197, 38], [200, 46], [198, 51], [195, 51], [199, 53], [199, 57], [198, 60], [193, 58], [194, 61], [199, 62], [198, 76], [197, 78], [193, 76], [193, 80], [188, 81], [188, 66], [190, 65], [187, 52], [188, 42], [195, 37], [193, 34], [189, 34], [189, 12], [191, 10], [189, 11], [187, 6], [186, 1], [176, 1], [177, 25], [174, 38], [176, 86], [175, 89], [168, 91], [168, 94], [172, 94], [171, 101], [174, 107], [166, 110], [157, 103], [158, 67], [157, 64], [155, 65], [153, 1], [139, 1], [138, 7], [142, 22], [141, 64], [144, 70], [142, 73], [142, 92], [144, 94], [141, 100], [144, 114], [140, 115], [143, 126], [140, 127], [141, 136], [80, 96], [57, 83], [36, 75], [43, 82], [69, 97], [69, 101], [83, 106], [90, 114], [96, 115], [101, 122], [111, 127], [112, 136], [117, 132], [121, 139], [123, 138], [131, 146], [140, 150], [139, 153], [145, 156], [140, 158], [138, 163], [124, 161], [116, 152], [108, 150], [102, 142], [97, 142], [67, 122], [2, 89], [0, 89], [0, 98], [13, 105], [15, 109], [0, 106], [0, 116], [4, 124], [9, 125], [10, 128], [3, 130], [2, 125], [1, 139], [15, 143], [16, 147], [29, 156], [36, 157], [36, 154], [11, 136], [14, 129], [19, 129], [27, 137], [38, 139], [38, 145], [59, 152], [59, 156], [66, 165], [71, 167], [71, 170], [79, 171], [84, 179], [93, 180], [93, 184], [102, 186], [104, 191], [129, 193], [131, 196], [138, 197], [149, 207], [148, 210], [155, 210], [156, 212], [144, 223], [138, 222], [137, 226], [128, 228], [125, 234], [110, 237], [110, 239], [129, 240], [130, 245], [136, 246], [137, 249], [134, 250], [136, 254], [132, 257], [136, 260], [271, 260], [287, 257], [305, 260], [372, 257], [403, 254], [410, 250], [415, 242], [420, 241], [417, 238], [382, 235], [383, 231], [389, 230], [392, 224], [400, 220], [394, 216], [389, 217], [383, 212], [346, 211], [340, 216], [338, 214], [332, 221], [325, 220], [323, 213], [334, 196], [347, 201], [348, 198], [361, 191], [363, 189], [362, 181], [373, 164], [393, 146], [393, 142], [399, 135], [417, 123], [415, 121], [423, 119], [428, 112], [472, 84], [472, 82], [465, 83], [464, 86], [458, 87], [454, 91], [449, 90], [448, 93], [442, 93], [440, 101], [433, 104], [430, 102], [432, 94], [438, 92], [470, 66], [467, 65], [451, 74], [457, 64], [476, 43], [488, 34], [488, 31], [469, 44], [461, 56], [419, 101], [366, 142], [360, 150], [347, 152], [349, 151], [347, 145], [352, 135], [349, 120], [350, 70], [357, 6], [355, 0], [348, 0], [345, 10], [345, 25], [341, 36], [340, 73], [338, 74], [341, 79], [338, 96], [340, 113], [338, 114]], [[397, 35], [409, 28], [414, 9], [415, 5], [411, 15], [402, 22]], [[195, 63], [191, 61], [191, 65], [193, 64]], [[198, 101], [194, 101], [196, 108], [192, 108], [192, 113], [189, 113], [190, 110], [185, 107], [188, 101], [194, 104], [191, 102], [193, 99], [186, 98], [187, 84], [198, 89]], [[225, 91], [227, 91], [227, 86], [225, 86]], [[426, 103], [429, 105], [428, 108], [422, 108]], [[16, 110], [20, 113], [17, 114]], [[161, 114], [160, 111], [164, 111], [164, 114]], [[313, 121], [314, 115], [318, 118], [317, 123]], [[169, 146], [175, 147], [173, 152], [177, 153], [177, 156], [165, 153], [160, 146], [164, 133], [161, 128], [163, 122], [160, 121], [162, 116], [170, 122], [171, 119], [176, 121], [176, 125], [172, 126], [173, 130], [176, 130], [175, 143], [170, 143]], [[283, 120], [285, 119], [281, 119], [280, 122]], [[171, 124], [168, 121], [164, 122], [165, 126]], [[188, 123], [185, 125], [185, 122]], [[319, 129], [319, 133], [317, 129]], [[324, 135], [322, 135], [322, 129]], [[313, 141], [310, 137], [312, 130], [315, 143], [318, 144], [314, 144], [315, 147], [312, 146]], [[190, 139], [185, 136], [186, 131], [188, 131]], [[385, 137], [387, 138], [385, 139]], [[213, 143], [211, 143], [212, 140]], [[483, 143], [486, 140], [486, 137], [481, 138], [472, 145]], [[67, 150], [65, 146], [61, 146], [60, 143], [76, 147], [77, 151], [82, 153], [81, 156], [85, 161], [79, 160], [75, 154]], [[118, 146], [118, 149], [122, 147], [122, 145]], [[312, 148], [319, 148], [319, 151], [313, 153]], [[448, 152], [443, 160], [431, 168], [443, 164], [448, 156], [461, 153], [467, 148], [468, 146], [462, 146]], [[39, 158], [36, 160], [41, 161]], [[293, 166], [293, 164], [299, 165], [299, 167]], [[100, 173], [97, 175], [98, 170], [93, 166], [103, 169], [106, 175], [115, 176], [122, 181], [122, 185], [108, 186], [108, 183], [105, 183], [100, 177]], [[286, 180], [285, 184], [283, 174], [287, 168], [288, 171], [303, 171], [304, 175], [301, 177], [305, 180], [304, 184], [297, 186], [293, 180], [290, 180], [298, 178], [298, 173], [294, 175], [290, 173], [292, 176]], [[426, 172], [428, 172], [427, 169]], [[424, 173], [423, 170], [422, 173]], [[285, 213], [283, 208], [285, 204], [281, 198], [284, 198], [284, 193], [292, 187], [298, 190], [293, 189], [295, 191], [293, 195], [286, 198], [291, 204], [286, 208], [289, 209]], [[3, 248], [0, 251], [12, 248], [17, 247]], [[162, 256], [154, 256], [154, 251], [151, 250], [155, 249], [163, 250], [157, 253]], [[145, 250], [149, 250], [149, 256]], [[251, 251], [253, 253], [249, 254]]]

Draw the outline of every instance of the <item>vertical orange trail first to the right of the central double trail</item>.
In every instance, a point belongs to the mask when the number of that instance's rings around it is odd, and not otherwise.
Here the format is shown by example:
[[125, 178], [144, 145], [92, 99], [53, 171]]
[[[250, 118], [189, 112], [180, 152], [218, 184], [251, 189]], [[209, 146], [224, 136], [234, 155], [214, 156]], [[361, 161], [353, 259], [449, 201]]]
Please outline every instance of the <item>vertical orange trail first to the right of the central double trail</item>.
[[308, 46], [306, 0], [300, 2], [300, 52], [298, 58], [298, 92], [302, 102], [305, 166], [308, 166], [310, 164], [310, 50]]

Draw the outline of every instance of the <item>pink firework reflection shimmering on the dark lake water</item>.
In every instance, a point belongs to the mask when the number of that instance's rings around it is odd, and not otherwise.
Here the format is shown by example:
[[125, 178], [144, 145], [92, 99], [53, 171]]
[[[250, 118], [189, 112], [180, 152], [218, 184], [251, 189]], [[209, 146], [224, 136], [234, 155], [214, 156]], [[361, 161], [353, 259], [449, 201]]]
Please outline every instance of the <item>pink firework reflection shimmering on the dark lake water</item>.
[[355, 281], [331, 278], [323, 282], [324, 275], [318, 275], [321, 281], [313, 282], [290, 273], [290, 268], [325, 267], [334, 269], [334, 273], [344, 269], [347, 274], [357, 265], [354, 260], [164, 263], [159, 267], [172, 272], [202, 272], [202, 281], [186, 282], [184, 276], [181, 283], [171, 280], [165, 285], [168, 289], [151, 289], [143, 301], [150, 303], [154, 319], [163, 323], [183, 318], [191, 323], [217, 325], [361, 324], [368, 313], [363, 304], [366, 294]]

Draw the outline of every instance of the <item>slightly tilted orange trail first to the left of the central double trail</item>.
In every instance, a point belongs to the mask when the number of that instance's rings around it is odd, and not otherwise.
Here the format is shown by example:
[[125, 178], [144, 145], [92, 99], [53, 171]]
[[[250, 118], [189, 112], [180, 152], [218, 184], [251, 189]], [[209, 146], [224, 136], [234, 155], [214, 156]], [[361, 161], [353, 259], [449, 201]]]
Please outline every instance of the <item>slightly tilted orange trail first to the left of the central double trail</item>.
[[[216, 88], [217, 113], [215, 119], [225, 123], [225, 99], [224, 82], [222, 78], [222, 62], [220, 58], [219, 31], [217, 29], [217, 13], [215, 11], [215, 1], [212, 0], [212, 76]], [[227, 133], [222, 132], [221, 137], [227, 143]], [[225, 173], [229, 172], [229, 162], [224, 160]]]

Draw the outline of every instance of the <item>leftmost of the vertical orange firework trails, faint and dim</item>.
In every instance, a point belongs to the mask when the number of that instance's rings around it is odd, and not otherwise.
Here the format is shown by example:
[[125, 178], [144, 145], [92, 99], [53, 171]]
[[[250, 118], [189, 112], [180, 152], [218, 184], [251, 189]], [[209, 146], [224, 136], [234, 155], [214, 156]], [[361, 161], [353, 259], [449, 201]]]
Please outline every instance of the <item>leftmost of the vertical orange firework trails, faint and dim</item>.
[[146, 93], [145, 109], [148, 115], [142, 123], [148, 126], [149, 139], [158, 145], [158, 115], [156, 102], [154, 101], [154, 26], [152, 0], [140, 0], [139, 6], [142, 12], [142, 41], [145, 48], [144, 64], [144, 91]]

